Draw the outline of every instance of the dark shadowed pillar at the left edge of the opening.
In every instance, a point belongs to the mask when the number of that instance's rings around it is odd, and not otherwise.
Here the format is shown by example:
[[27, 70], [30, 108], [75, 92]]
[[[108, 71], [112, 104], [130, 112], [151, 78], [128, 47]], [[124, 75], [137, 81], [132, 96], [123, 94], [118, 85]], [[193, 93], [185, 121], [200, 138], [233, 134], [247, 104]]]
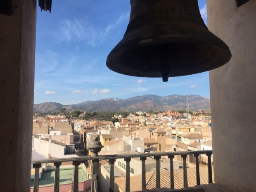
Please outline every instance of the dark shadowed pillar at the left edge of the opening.
[[36, 0], [12, 0], [0, 14], [0, 187], [29, 192]]

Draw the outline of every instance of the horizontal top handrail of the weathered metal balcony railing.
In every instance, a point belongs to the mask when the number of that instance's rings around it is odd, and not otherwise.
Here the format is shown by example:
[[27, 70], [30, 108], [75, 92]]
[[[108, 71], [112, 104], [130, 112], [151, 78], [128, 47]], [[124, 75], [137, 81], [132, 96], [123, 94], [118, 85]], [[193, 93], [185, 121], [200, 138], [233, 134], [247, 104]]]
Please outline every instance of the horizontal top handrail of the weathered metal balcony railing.
[[147, 156], [169, 156], [169, 155], [199, 155], [199, 154], [212, 154], [211, 150], [205, 151], [182, 151], [182, 152], [155, 152], [155, 153], [133, 153], [133, 154], [116, 154], [116, 155], [98, 155], [98, 156], [79, 156], [79, 157], [67, 157], [59, 159], [42, 159], [34, 160], [31, 164], [47, 164], [67, 161], [85, 161], [85, 160], [98, 160], [98, 159], [125, 159]]

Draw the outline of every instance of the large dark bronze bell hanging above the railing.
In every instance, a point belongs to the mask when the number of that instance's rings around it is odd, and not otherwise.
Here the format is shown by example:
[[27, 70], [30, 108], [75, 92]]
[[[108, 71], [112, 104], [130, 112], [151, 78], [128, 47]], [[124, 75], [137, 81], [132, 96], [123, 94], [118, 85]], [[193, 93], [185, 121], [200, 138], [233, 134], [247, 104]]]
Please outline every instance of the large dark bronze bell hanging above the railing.
[[130, 0], [123, 39], [107, 57], [107, 67], [139, 77], [191, 75], [216, 69], [231, 58], [228, 46], [211, 33], [197, 0]]

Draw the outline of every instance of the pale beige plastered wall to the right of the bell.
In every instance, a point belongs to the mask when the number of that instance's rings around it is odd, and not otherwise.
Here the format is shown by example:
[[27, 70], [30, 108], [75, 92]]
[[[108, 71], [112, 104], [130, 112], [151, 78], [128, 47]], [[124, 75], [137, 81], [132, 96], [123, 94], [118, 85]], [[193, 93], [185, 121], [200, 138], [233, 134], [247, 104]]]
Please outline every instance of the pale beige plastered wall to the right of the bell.
[[[209, 30], [232, 53], [210, 71], [215, 182], [256, 191], [256, 0], [207, 0]], [[241, 162], [245, 162], [241, 164]]]

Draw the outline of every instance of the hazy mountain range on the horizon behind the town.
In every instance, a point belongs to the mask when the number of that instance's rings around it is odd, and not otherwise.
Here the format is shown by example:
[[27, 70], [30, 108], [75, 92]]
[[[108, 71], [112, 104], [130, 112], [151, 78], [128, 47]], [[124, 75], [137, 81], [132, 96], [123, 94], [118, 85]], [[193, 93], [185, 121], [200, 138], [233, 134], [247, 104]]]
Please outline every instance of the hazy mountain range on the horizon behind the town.
[[185, 110], [187, 97], [190, 111], [199, 109], [210, 110], [210, 99], [199, 95], [169, 95], [160, 97], [158, 95], [142, 95], [125, 100], [108, 98], [100, 101], [85, 101], [78, 104], [62, 105], [60, 103], [46, 102], [34, 104], [34, 111], [47, 112], [59, 111], [64, 107], [68, 111], [166, 111]]

